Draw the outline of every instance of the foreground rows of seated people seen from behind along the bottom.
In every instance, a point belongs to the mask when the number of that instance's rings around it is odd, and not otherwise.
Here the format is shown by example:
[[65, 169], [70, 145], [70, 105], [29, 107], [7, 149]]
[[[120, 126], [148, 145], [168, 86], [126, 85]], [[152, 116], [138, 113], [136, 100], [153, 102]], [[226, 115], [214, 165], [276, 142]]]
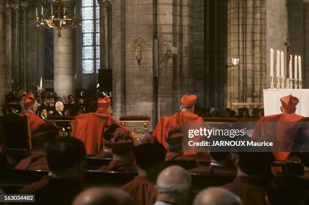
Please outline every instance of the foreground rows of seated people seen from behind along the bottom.
[[[213, 152], [212, 164], [202, 171], [175, 165], [163, 168], [167, 151], [155, 136], [144, 136], [137, 146], [129, 137], [127, 130], [117, 129], [111, 146], [113, 163], [99, 170], [114, 171], [115, 165], [123, 168], [117, 171], [137, 170], [131, 182], [119, 188], [86, 188], [82, 183], [86, 172], [84, 144], [74, 137], [56, 137], [45, 143], [48, 176], [25, 186], [20, 193], [35, 194], [38, 204], [305, 204], [308, 181], [296, 175], [273, 173], [271, 164], [275, 158], [270, 152]], [[120, 147], [125, 147], [124, 151]], [[193, 195], [194, 174], [235, 178]]]

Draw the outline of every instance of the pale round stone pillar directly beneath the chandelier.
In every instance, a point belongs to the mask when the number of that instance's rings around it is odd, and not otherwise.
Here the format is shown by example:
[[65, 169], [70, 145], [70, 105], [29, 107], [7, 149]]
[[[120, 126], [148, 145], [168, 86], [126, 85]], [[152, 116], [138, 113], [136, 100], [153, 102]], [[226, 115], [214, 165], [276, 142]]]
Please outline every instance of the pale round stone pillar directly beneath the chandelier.
[[75, 94], [74, 29], [54, 31], [54, 88], [58, 96]]

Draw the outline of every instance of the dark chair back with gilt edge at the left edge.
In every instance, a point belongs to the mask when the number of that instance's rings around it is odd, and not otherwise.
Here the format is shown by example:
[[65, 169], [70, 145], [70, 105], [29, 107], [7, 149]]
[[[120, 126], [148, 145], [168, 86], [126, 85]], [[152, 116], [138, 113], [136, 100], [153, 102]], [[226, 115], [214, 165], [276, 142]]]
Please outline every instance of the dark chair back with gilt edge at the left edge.
[[11, 113], [0, 116], [1, 138], [5, 153], [24, 153], [32, 149], [28, 117]]

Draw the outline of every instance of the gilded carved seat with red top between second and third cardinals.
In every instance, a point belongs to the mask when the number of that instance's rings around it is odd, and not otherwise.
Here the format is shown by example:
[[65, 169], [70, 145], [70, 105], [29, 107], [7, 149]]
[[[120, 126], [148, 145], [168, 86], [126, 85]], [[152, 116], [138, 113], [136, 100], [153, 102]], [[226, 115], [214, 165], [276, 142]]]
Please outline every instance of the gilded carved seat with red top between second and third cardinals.
[[[137, 141], [142, 137], [142, 134], [137, 130], [143, 130], [145, 134], [149, 131], [149, 121], [151, 118], [149, 116], [121, 116], [119, 118], [119, 122], [123, 125], [128, 127], [133, 134], [134, 138], [134, 145], [137, 144]], [[128, 125], [128, 123], [130, 125]], [[132, 125], [133, 124], [133, 125]]]

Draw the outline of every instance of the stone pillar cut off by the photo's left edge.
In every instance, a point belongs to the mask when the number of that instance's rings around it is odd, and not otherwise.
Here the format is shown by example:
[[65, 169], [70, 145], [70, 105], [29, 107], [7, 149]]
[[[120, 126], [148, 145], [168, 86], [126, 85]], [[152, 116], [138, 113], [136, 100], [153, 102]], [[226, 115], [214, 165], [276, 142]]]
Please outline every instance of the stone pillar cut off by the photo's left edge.
[[0, 107], [6, 99], [6, 46], [5, 46], [5, 8], [6, 1], [0, 0]]

